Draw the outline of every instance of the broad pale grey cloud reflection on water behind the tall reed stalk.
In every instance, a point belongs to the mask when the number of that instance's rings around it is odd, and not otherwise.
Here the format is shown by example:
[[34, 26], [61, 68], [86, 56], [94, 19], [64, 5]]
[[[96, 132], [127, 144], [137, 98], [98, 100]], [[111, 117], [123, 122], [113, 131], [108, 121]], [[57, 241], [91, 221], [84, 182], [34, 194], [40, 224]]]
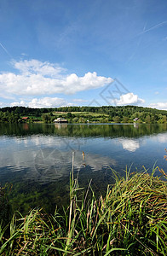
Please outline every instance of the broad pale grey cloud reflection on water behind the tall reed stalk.
[[[36, 142], [34, 142], [36, 143]], [[49, 183], [61, 177], [68, 177], [72, 170], [72, 151], [62, 151], [56, 148], [39, 148], [37, 150], [10, 151], [8, 158], [1, 154], [0, 168], [6, 167], [9, 172], [21, 172], [22, 179], [32, 179], [39, 183]], [[75, 151], [74, 168], [80, 171], [85, 166], [90, 171], [101, 171], [107, 166], [116, 166], [116, 160], [102, 157], [98, 154], [86, 153], [83, 159], [82, 151]]]

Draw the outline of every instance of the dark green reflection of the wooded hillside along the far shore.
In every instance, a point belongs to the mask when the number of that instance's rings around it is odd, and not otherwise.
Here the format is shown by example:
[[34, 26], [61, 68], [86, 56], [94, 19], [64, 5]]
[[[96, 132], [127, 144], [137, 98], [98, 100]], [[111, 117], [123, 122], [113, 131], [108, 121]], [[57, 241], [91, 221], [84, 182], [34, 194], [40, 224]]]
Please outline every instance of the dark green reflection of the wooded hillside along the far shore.
[[66, 137], [141, 137], [167, 131], [162, 125], [93, 125], [93, 124], [3, 124], [0, 123], [0, 136], [56, 135]]

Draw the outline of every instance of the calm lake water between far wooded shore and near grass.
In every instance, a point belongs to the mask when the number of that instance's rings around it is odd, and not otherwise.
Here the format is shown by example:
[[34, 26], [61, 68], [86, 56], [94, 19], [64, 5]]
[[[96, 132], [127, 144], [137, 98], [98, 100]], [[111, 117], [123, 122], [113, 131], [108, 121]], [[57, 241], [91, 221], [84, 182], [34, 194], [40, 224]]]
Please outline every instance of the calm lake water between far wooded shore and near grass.
[[152, 172], [156, 164], [165, 171], [164, 148], [166, 124], [0, 124], [0, 183], [13, 184], [14, 210], [53, 212], [68, 201], [72, 152], [80, 185], [92, 179], [95, 192], [103, 193], [113, 183], [112, 169], [124, 175], [126, 166], [131, 172], [145, 166]]

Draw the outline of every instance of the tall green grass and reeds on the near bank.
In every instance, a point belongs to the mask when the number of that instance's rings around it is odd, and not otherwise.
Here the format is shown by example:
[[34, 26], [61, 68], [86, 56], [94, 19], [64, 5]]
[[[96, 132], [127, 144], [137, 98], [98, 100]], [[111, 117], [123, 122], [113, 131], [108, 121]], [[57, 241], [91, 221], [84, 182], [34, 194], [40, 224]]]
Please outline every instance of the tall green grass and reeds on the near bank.
[[[126, 172], [95, 198], [85, 195], [71, 175], [70, 203], [64, 214], [33, 209], [15, 212], [0, 229], [0, 255], [167, 255], [167, 183], [146, 172]], [[91, 193], [91, 200], [88, 194]]]

